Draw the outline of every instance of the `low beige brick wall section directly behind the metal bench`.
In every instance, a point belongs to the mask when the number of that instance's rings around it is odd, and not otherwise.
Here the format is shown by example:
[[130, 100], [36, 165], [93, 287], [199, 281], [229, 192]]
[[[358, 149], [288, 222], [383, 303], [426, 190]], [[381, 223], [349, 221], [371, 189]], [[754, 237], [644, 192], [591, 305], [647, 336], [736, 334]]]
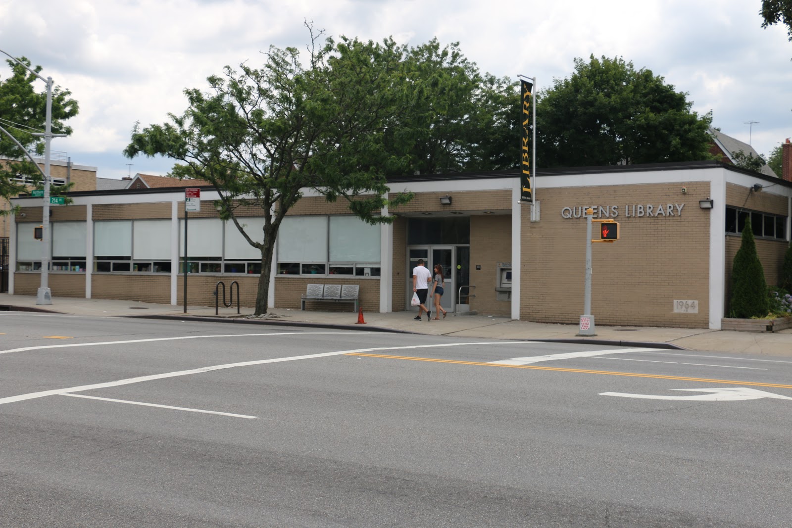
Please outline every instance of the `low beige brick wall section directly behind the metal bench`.
[[[307, 291], [308, 284], [357, 284], [360, 286], [360, 307], [364, 312], [379, 312], [379, 280], [378, 279], [329, 279], [281, 277], [275, 279], [276, 308], [300, 308], [300, 295]], [[325, 310], [335, 312], [352, 311], [351, 302], [307, 302], [306, 310]], [[354, 321], [353, 321], [354, 322]]]

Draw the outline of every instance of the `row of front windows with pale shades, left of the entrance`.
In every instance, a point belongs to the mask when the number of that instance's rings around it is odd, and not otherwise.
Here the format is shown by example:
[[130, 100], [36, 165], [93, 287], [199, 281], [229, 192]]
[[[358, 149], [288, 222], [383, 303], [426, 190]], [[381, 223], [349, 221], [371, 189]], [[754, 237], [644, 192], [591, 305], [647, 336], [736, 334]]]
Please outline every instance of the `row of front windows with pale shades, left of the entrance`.
[[[261, 237], [264, 218], [244, 218], [247, 233]], [[86, 248], [86, 222], [53, 222], [51, 270], [58, 272], [170, 273], [170, 220], [97, 220], [93, 222], [93, 263], [74, 255]], [[17, 270], [41, 268], [41, 242], [33, 223], [17, 224]], [[179, 235], [184, 233], [180, 220]], [[379, 225], [353, 216], [287, 217], [278, 236], [278, 272], [284, 275], [379, 276]], [[261, 252], [242, 237], [233, 222], [195, 218], [188, 222], [189, 273], [261, 274]], [[183, 242], [179, 243], [184, 258]], [[72, 256], [63, 256], [72, 255]], [[184, 272], [179, 263], [179, 272]]]

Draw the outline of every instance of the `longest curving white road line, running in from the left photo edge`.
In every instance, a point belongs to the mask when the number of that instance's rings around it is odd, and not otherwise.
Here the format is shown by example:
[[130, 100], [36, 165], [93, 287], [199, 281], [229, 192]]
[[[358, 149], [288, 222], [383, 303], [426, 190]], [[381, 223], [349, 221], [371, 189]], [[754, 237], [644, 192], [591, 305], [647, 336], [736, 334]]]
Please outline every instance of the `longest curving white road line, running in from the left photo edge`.
[[[321, 332], [318, 332], [321, 333]], [[328, 332], [333, 333], [333, 332]], [[337, 332], [335, 332], [337, 333]], [[264, 334], [268, 335], [268, 334]], [[282, 363], [284, 361], [296, 361], [298, 359], [316, 359], [316, 358], [326, 358], [333, 355], [344, 355], [344, 354], [359, 354], [364, 352], [374, 352], [374, 351], [393, 351], [393, 350], [407, 350], [407, 349], [415, 349], [415, 348], [436, 348], [436, 347], [462, 347], [462, 346], [478, 346], [484, 344], [528, 344], [532, 343], [532, 341], [492, 341], [492, 342], [480, 342], [480, 343], [441, 343], [441, 344], [417, 344], [417, 345], [410, 345], [407, 347], [378, 347], [378, 348], [358, 348], [356, 350], [341, 350], [336, 352], [322, 352], [319, 354], [308, 354], [308, 355], [292, 355], [286, 358], [274, 358], [274, 359], [257, 359], [255, 361], [242, 361], [240, 363], [225, 363], [223, 365], [212, 365], [211, 367], [200, 367], [196, 369], [190, 370], [176, 370], [173, 372], [164, 372], [162, 374], [150, 374], [148, 376], [138, 376], [137, 378], [127, 378], [127, 379], [119, 379], [115, 382], [105, 382], [105, 383], [93, 383], [91, 385], [82, 385], [77, 387], [67, 387], [66, 389], [51, 389], [51, 390], [42, 390], [37, 393], [27, 393], [27, 394], [20, 394], [18, 396], [9, 396], [5, 398], [0, 398], [0, 405], [13, 403], [15, 401], [25, 401], [25, 400], [34, 400], [36, 398], [43, 398], [48, 396], [55, 396], [56, 394], [66, 394], [66, 393], [82, 393], [86, 390], [93, 390], [93, 389], [105, 389], [107, 387], [117, 387], [122, 385], [130, 385], [131, 383], [140, 383], [140, 382], [150, 382], [156, 379], [165, 379], [165, 378], [177, 378], [178, 376], [188, 376], [189, 374], [203, 374], [204, 372], [211, 372], [213, 370], [224, 370], [230, 369], [234, 367], [250, 367], [252, 365], [264, 365], [265, 363]]]

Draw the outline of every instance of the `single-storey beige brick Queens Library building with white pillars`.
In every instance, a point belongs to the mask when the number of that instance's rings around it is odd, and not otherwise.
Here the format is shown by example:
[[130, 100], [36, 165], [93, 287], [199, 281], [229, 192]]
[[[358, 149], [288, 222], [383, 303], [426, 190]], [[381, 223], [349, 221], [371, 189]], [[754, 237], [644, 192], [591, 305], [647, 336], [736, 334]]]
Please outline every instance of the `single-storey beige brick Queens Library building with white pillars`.
[[[307, 190], [284, 218], [268, 270], [203, 186], [200, 212], [188, 213], [188, 302], [212, 306], [218, 281], [237, 281], [242, 304], [253, 306], [265, 271], [271, 307], [299, 309], [309, 284], [351, 284], [365, 311], [409, 311], [412, 269], [423, 259], [430, 270], [443, 266], [446, 310], [577, 324], [591, 207], [620, 233], [592, 245], [598, 325], [720, 329], [747, 218], [767, 284], [779, 282], [792, 232], [790, 150], [787, 143], [783, 178], [716, 161], [539, 170], [533, 206], [520, 201], [518, 170], [398, 177], [391, 191], [415, 196], [381, 211], [395, 220], [378, 226]], [[49, 243], [53, 298], [181, 305], [189, 182], [177, 183], [71, 192], [73, 203], [51, 206], [50, 242], [34, 237], [41, 199], [13, 199], [21, 210], [10, 217], [9, 292], [36, 294]], [[247, 233], [261, 233], [254, 209], [238, 218]], [[349, 309], [307, 300], [307, 310]]]

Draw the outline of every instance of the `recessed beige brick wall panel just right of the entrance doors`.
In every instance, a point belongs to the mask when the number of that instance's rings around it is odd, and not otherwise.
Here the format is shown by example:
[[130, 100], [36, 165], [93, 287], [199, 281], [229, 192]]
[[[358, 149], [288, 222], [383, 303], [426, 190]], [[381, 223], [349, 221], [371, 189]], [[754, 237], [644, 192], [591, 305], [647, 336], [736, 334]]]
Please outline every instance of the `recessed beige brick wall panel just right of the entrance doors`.
[[[470, 310], [478, 313], [511, 315], [511, 301], [498, 301], [496, 264], [512, 261], [511, 215], [470, 217], [470, 284], [476, 296], [470, 299]], [[482, 269], [476, 266], [481, 264]]]

